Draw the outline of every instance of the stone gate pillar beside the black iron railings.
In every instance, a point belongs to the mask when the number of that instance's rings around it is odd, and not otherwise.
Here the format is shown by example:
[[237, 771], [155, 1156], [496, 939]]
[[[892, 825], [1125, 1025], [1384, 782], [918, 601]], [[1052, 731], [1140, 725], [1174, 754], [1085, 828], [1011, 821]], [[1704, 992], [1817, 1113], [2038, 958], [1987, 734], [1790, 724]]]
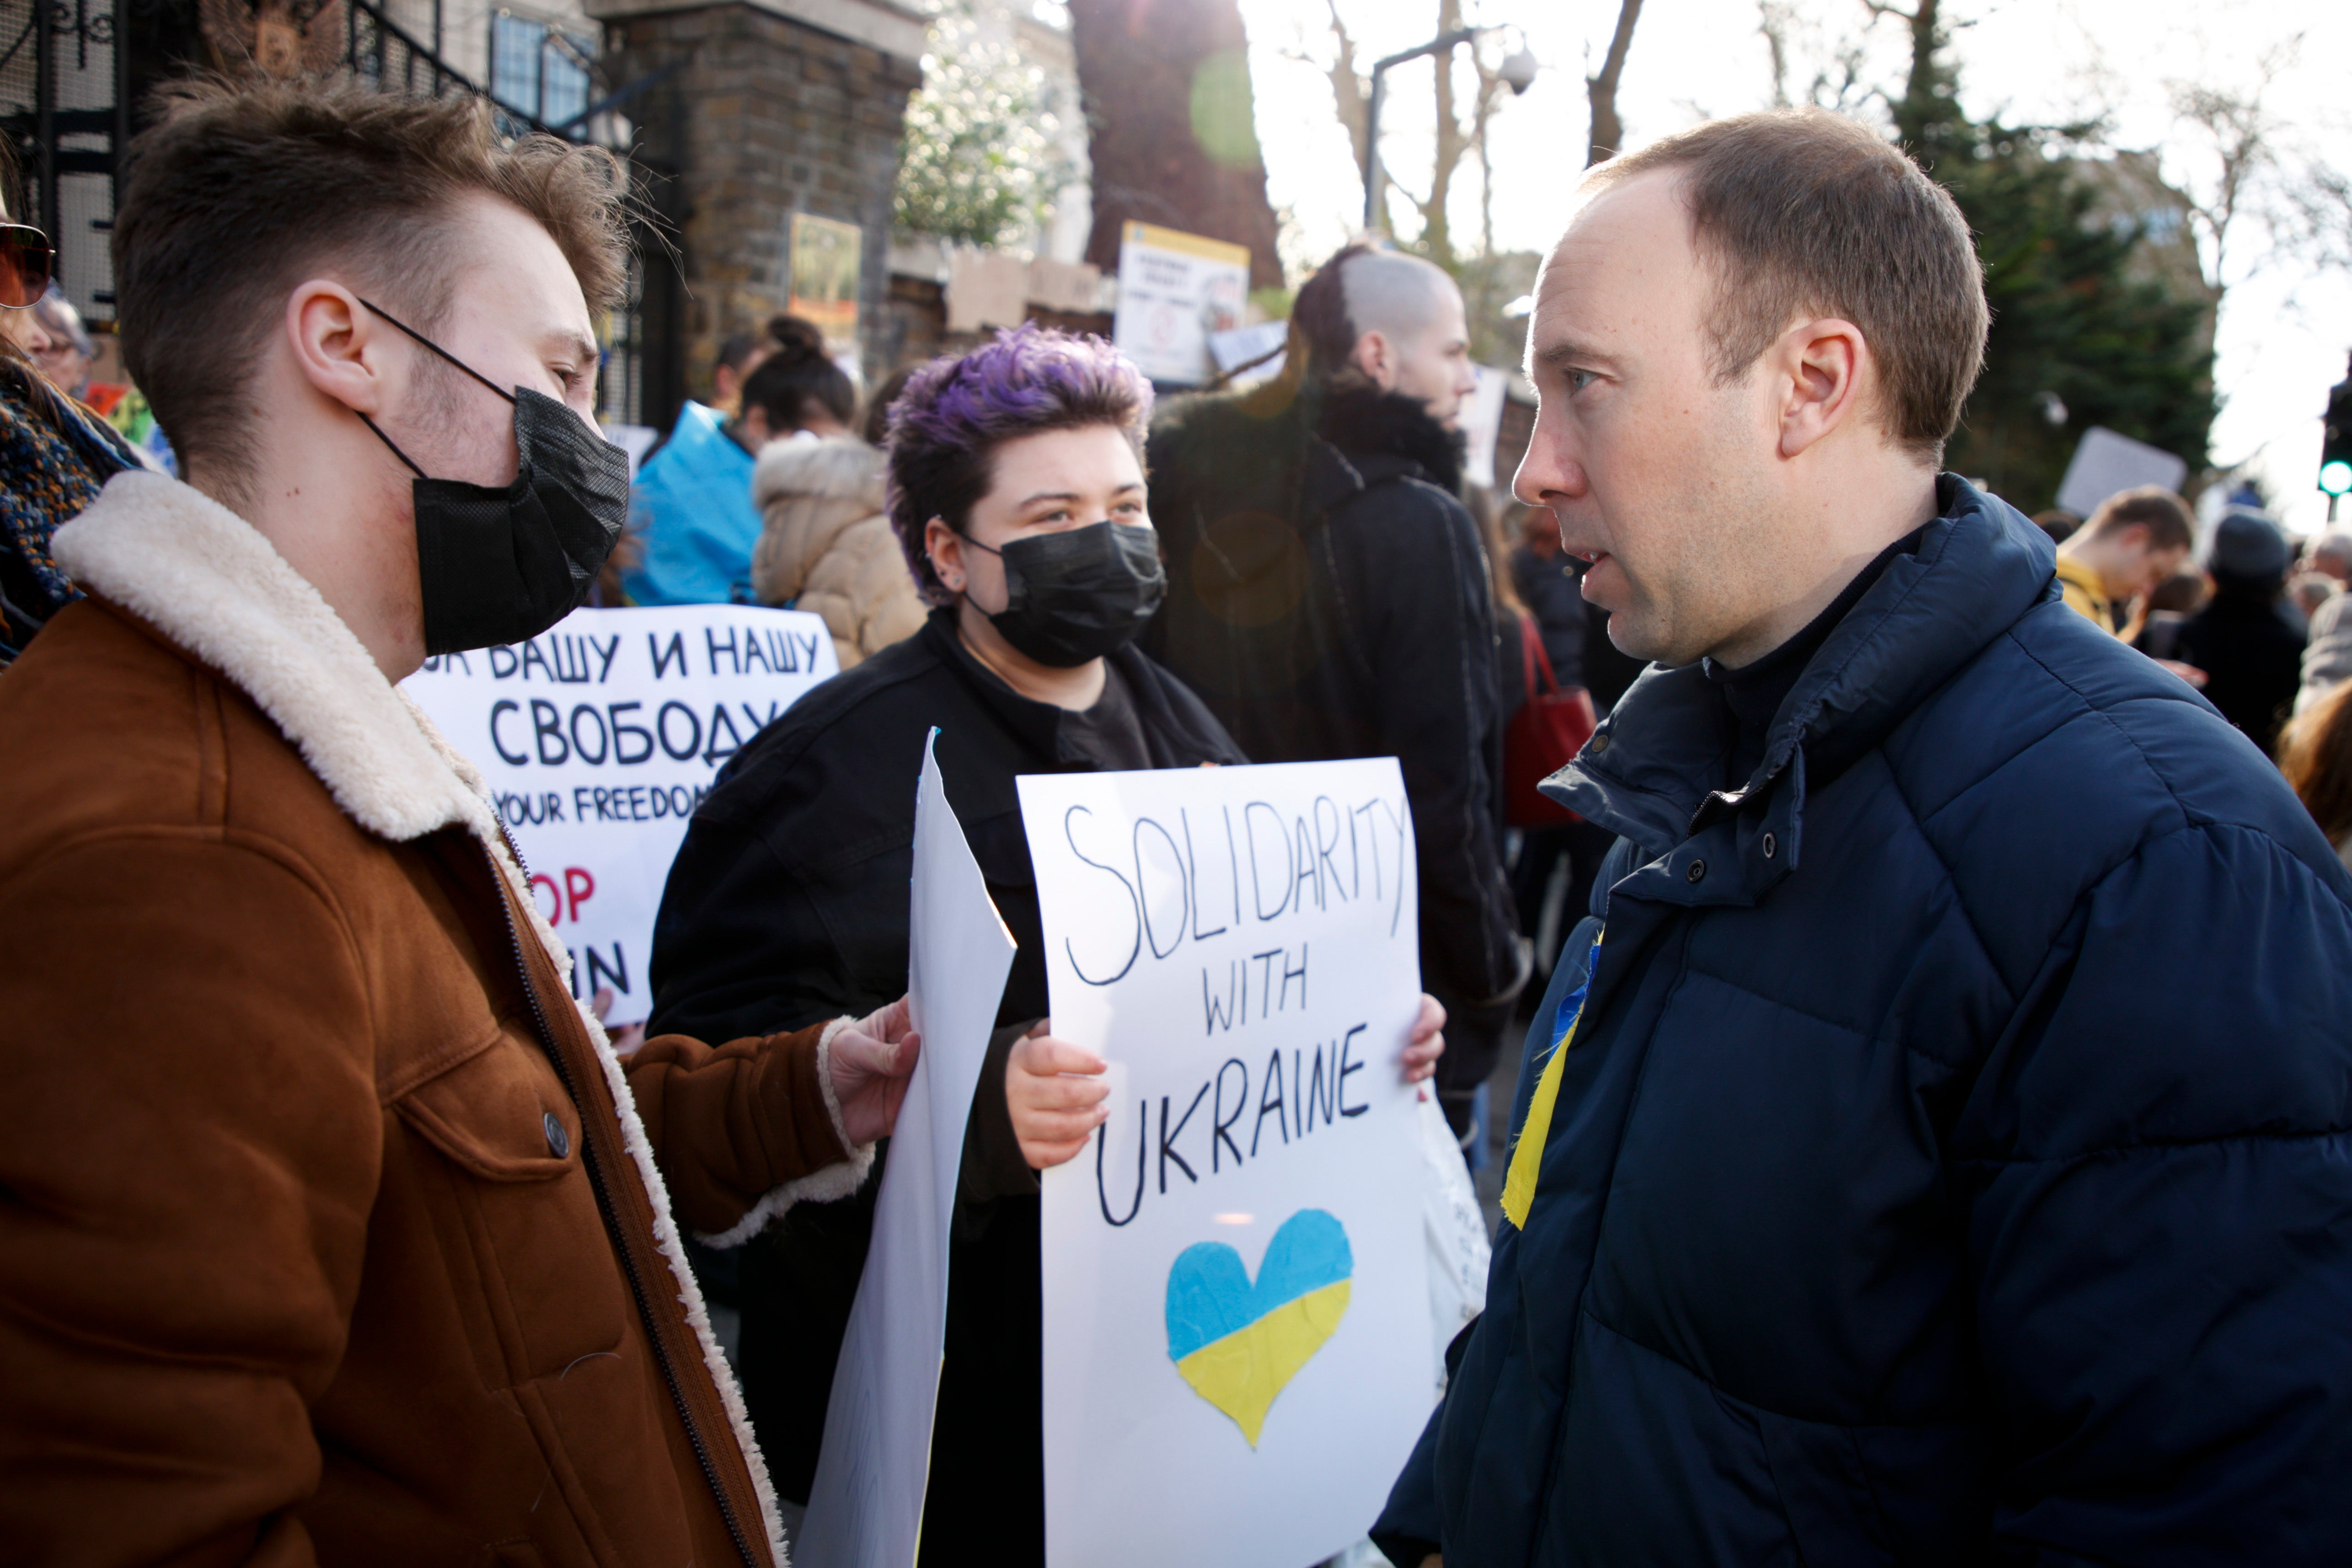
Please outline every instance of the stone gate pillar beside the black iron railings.
[[[764, 5], [713, 5], [607, 24], [612, 80], [661, 75], [628, 113], [652, 200], [675, 223], [684, 388], [710, 395], [727, 334], [755, 331], [786, 306], [795, 212], [856, 223], [866, 240], [858, 336], [868, 374], [889, 364], [889, 214], [906, 99], [922, 85], [910, 52], [809, 26]], [[835, 7], [840, 9], [840, 7]], [[894, 38], [920, 49], [906, 16]], [[659, 273], [659, 268], [656, 268]], [[647, 409], [668, 423], [675, 409]]]

